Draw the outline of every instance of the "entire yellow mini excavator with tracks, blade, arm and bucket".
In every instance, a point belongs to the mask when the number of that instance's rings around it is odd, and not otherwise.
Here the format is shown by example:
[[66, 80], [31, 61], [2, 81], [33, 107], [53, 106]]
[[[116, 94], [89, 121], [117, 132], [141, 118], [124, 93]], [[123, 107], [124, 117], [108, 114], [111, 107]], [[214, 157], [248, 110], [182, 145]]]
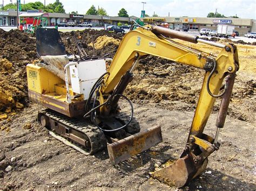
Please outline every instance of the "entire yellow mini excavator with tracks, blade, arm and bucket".
[[[140, 56], [151, 54], [205, 70], [184, 152], [171, 166], [152, 174], [167, 185], [183, 187], [205, 170], [207, 157], [220, 146], [218, 136], [224, 126], [239, 68], [237, 47], [160, 26], [141, 26], [136, 22], [134, 25], [137, 28], [125, 34], [113, 59], [87, 55], [75, 34], [73, 40], [78, 55], [68, 38], [73, 53], [69, 54], [57, 30], [37, 29], [37, 53], [43, 61], [26, 66], [29, 98], [46, 108], [38, 112], [37, 118], [53, 137], [84, 154], [107, 147], [110, 161], [117, 164], [162, 141], [160, 126], [140, 131], [133, 119], [132, 103], [123, 95]], [[214, 56], [179, 44], [172, 38], [217, 46], [222, 50]], [[106, 61], [111, 62], [109, 67]], [[222, 100], [217, 131], [215, 137], [211, 137], [204, 133], [204, 128], [218, 97]], [[118, 117], [121, 98], [131, 108], [130, 115]]]

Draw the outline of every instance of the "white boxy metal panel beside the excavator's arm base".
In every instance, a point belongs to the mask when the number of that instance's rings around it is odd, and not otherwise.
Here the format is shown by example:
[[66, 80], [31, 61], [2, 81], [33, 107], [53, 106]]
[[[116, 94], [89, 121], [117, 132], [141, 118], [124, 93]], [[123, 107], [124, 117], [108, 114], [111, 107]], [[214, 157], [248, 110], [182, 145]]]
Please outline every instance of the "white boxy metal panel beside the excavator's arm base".
[[84, 94], [87, 100], [93, 84], [106, 72], [104, 59], [86, 60], [70, 66], [70, 79], [73, 92]]

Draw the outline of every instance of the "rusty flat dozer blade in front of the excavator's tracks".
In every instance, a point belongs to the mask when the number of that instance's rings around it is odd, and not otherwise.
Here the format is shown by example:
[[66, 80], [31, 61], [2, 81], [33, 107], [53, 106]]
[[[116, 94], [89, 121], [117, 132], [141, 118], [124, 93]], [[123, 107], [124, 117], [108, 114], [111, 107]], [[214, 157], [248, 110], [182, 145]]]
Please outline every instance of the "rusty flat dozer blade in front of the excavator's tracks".
[[107, 144], [107, 151], [111, 163], [118, 164], [162, 141], [161, 127], [154, 126], [117, 142]]

